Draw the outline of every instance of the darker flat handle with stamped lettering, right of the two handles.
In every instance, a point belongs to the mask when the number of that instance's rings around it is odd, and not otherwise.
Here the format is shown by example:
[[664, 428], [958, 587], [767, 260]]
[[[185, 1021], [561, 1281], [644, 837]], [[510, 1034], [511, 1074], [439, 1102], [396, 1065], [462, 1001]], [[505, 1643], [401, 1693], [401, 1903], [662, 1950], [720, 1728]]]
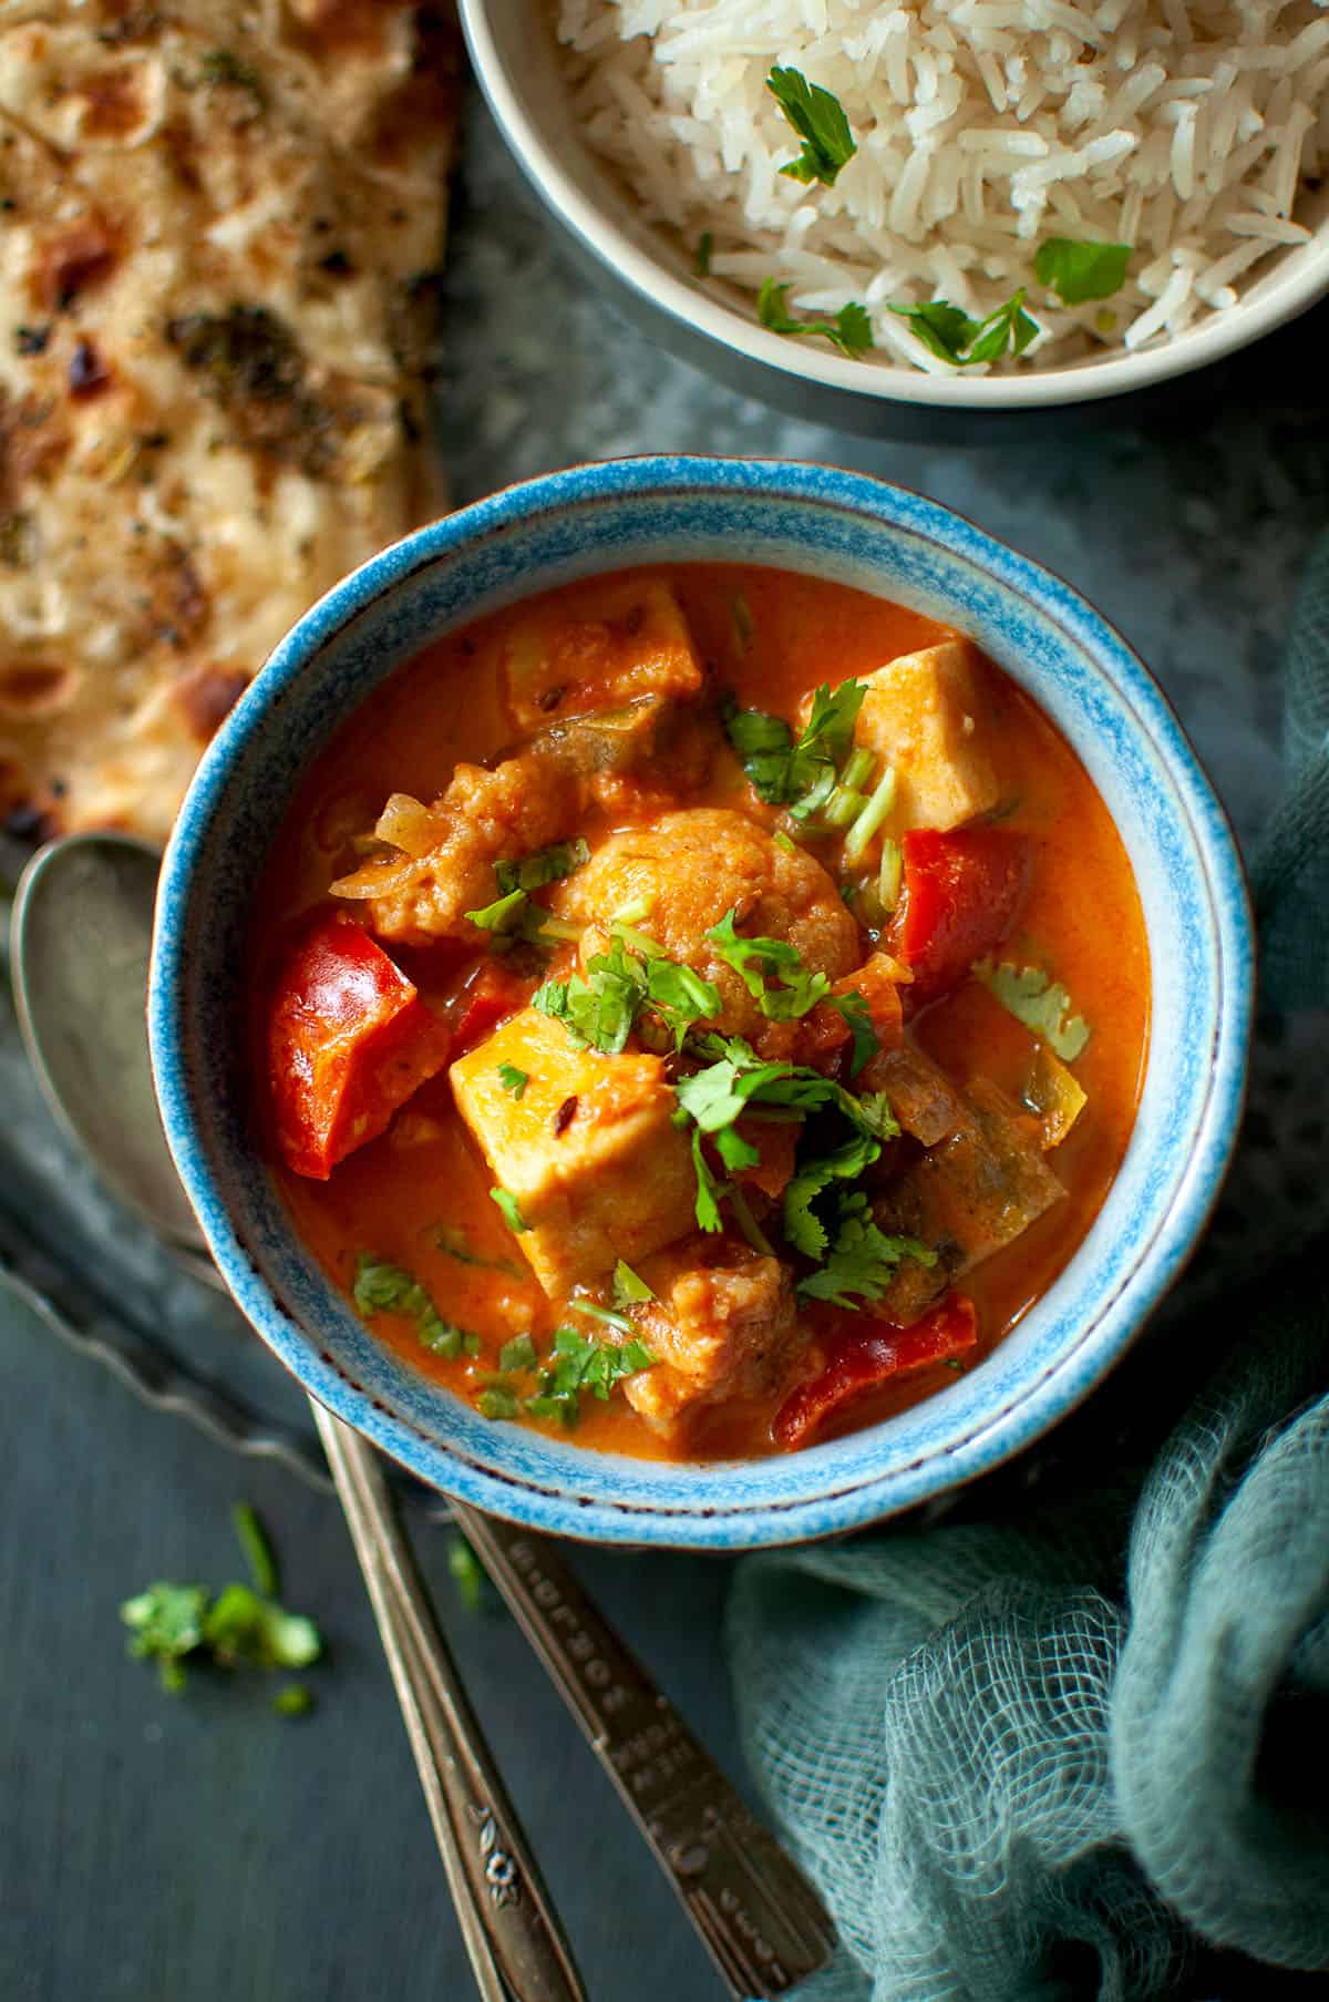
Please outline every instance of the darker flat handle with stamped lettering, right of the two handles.
[[835, 1928], [654, 1688], [548, 1538], [452, 1514], [580, 1722], [592, 1752], [697, 1926], [733, 1996], [781, 1996], [821, 1968]]

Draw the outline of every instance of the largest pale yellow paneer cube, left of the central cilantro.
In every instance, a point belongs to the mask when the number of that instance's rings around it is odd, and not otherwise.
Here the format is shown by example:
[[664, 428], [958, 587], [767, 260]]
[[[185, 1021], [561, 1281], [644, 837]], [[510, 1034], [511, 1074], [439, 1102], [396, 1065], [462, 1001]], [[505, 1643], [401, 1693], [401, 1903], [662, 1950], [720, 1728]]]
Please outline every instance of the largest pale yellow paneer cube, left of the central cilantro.
[[[500, 1065], [524, 1073], [516, 1095]], [[574, 1049], [536, 1009], [448, 1071], [456, 1107], [526, 1225], [514, 1243], [550, 1299], [695, 1227], [697, 1175], [660, 1057]]]

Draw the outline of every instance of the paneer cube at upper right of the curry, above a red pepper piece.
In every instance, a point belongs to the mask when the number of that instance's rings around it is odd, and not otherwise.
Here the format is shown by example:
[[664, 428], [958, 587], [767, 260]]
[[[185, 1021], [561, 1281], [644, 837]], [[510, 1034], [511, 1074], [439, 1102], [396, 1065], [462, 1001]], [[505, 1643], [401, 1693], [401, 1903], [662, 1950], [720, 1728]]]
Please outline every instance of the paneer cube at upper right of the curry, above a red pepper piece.
[[1001, 793], [979, 717], [979, 685], [965, 641], [903, 653], [867, 681], [855, 743], [895, 767], [889, 833], [959, 827]]

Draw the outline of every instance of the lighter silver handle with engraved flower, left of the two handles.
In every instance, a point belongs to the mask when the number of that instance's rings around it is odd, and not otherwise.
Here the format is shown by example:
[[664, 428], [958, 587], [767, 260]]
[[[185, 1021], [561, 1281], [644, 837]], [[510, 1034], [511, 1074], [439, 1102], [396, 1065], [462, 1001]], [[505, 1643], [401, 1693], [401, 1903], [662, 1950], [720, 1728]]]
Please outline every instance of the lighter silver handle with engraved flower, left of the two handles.
[[482, 2002], [586, 2002], [438, 1632], [376, 1451], [310, 1397]]

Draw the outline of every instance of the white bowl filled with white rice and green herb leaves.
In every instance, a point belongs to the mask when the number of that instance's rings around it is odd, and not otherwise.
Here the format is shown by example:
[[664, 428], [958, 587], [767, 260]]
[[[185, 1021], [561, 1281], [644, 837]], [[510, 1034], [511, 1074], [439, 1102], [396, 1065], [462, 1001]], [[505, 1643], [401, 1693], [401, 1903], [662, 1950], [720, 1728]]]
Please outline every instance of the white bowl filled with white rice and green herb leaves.
[[1329, 292], [1321, 0], [462, 18], [516, 160], [654, 334], [829, 422], [1157, 388]]

